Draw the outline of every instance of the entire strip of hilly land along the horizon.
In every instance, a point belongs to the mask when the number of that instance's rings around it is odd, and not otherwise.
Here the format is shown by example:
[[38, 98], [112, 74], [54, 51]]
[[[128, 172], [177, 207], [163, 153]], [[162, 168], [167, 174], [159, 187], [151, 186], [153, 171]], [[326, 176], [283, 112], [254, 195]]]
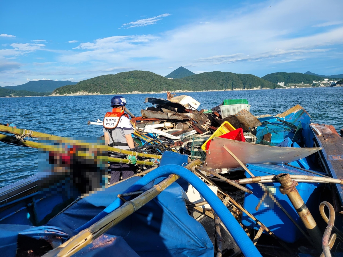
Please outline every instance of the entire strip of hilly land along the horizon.
[[297, 72], [276, 72], [260, 78], [251, 74], [220, 71], [194, 74], [181, 66], [165, 77], [149, 71], [128, 71], [80, 82], [31, 81], [19, 86], [0, 87], [0, 97], [257, 90], [335, 86], [336, 83], [341, 85], [342, 81], [339, 78], [338, 81], [332, 81], [319, 75]]

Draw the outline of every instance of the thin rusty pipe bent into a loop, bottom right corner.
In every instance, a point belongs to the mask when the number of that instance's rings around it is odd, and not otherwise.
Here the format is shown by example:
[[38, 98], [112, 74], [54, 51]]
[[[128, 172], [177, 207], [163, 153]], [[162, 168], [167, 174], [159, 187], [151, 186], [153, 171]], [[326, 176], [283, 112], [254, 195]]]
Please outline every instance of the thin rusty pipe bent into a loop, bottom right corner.
[[[329, 209], [329, 218], [326, 216], [326, 214], [324, 212], [325, 206], [328, 207], [328, 209]], [[319, 205], [319, 212], [320, 212], [321, 216], [323, 217], [324, 221], [326, 223], [328, 223], [328, 225], [324, 231], [323, 238], [322, 238], [323, 253], [324, 253], [325, 257], [331, 257], [330, 248], [332, 246], [330, 247], [330, 245], [329, 245], [329, 238], [331, 235], [333, 225], [335, 223], [335, 210], [330, 203], [328, 203], [327, 201], [323, 201]]]

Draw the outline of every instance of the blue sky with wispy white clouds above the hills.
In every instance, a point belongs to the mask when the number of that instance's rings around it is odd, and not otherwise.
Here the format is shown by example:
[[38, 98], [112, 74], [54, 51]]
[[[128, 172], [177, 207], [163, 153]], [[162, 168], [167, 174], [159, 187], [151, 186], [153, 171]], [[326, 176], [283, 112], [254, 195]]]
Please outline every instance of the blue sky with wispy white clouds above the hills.
[[343, 1], [2, 1], [0, 86], [183, 66], [343, 74]]

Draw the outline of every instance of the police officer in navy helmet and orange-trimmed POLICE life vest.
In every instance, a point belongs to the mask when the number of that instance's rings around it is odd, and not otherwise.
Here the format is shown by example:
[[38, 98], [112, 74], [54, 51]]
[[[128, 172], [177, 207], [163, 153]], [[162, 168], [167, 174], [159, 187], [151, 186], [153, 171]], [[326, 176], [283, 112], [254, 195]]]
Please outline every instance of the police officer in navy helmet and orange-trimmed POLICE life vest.
[[[114, 96], [111, 99], [111, 112], [107, 112], [104, 118], [105, 144], [128, 150], [134, 148], [133, 128], [128, 115], [125, 113], [126, 99], [122, 96]], [[123, 179], [133, 175], [132, 164], [110, 162], [111, 180], [110, 184], [119, 181], [120, 173]]]

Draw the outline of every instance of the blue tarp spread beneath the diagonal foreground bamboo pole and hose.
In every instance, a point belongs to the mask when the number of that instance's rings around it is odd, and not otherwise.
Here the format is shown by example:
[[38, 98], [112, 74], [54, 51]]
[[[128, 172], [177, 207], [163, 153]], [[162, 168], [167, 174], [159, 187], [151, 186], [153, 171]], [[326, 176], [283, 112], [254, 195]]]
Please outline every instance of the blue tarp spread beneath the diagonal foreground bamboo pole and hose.
[[[133, 177], [78, 201], [48, 225], [74, 230], [95, 217], [139, 178]], [[162, 179], [158, 179], [158, 183]], [[141, 257], [213, 256], [213, 245], [202, 225], [188, 215], [182, 188], [173, 183], [107, 234], [123, 237]]]

